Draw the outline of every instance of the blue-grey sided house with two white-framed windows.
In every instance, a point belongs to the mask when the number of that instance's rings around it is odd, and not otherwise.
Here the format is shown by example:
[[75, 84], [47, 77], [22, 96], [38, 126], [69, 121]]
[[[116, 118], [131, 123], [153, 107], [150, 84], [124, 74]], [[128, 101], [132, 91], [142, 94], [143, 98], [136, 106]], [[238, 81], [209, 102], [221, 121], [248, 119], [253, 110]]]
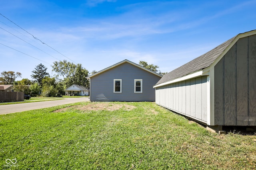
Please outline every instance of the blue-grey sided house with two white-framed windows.
[[153, 88], [162, 76], [124, 60], [89, 75], [90, 101], [155, 101]]

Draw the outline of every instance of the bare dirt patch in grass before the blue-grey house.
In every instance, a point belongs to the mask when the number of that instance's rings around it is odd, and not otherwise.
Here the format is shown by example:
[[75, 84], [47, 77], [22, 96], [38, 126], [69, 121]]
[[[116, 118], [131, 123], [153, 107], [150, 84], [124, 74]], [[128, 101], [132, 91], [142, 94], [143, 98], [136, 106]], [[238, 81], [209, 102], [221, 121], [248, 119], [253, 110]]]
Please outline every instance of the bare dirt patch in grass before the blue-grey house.
[[136, 107], [135, 106], [131, 106], [131, 105], [128, 105], [128, 104], [113, 104], [113, 103], [90, 103], [88, 105], [82, 105], [82, 106], [71, 106], [71, 107], [66, 107], [66, 108], [63, 108], [63, 109], [58, 109], [54, 112], [62, 112], [62, 111], [66, 111], [67, 109], [69, 108], [76, 108], [76, 109], [79, 109], [79, 110], [82, 110], [82, 111], [91, 111], [91, 110], [107, 110], [107, 111], [115, 111], [115, 110], [118, 110], [118, 109], [124, 109], [124, 110], [132, 110], [132, 109], [135, 109]]

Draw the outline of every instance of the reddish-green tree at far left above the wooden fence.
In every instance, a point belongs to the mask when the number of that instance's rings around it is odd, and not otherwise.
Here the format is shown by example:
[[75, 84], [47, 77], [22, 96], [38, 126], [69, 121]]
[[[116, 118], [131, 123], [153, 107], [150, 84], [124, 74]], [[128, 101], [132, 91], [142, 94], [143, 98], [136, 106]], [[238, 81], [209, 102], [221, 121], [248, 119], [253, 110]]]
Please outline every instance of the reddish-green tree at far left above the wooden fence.
[[13, 84], [17, 77], [21, 77], [20, 72], [14, 71], [3, 71], [1, 72], [0, 84]]

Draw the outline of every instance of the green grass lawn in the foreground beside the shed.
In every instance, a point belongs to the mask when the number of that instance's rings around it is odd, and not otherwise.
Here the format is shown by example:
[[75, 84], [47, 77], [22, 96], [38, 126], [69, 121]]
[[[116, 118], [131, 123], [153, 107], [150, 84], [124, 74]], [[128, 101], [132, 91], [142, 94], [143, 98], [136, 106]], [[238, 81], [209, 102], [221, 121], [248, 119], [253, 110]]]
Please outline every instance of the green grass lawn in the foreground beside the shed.
[[256, 136], [211, 133], [152, 102], [84, 102], [0, 115], [0, 169], [10, 167], [250, 170]]

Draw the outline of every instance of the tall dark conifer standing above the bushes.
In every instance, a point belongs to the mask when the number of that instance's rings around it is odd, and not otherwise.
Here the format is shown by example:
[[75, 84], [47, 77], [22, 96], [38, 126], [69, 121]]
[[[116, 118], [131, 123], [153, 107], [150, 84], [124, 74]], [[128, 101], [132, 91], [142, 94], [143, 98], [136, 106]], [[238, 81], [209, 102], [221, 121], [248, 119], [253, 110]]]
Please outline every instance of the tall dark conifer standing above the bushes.
[[36, 66], [35, 70], [32, 71], [32, 73], [34, 74], [32, 74], [31, 77], [34, 78], [36, 82], [38, 82], [39, 86], [42, 86], [42, 80], [46, 76], [50, 76], [50, 74], [46, 70], [47, 67], [40, 63]]

